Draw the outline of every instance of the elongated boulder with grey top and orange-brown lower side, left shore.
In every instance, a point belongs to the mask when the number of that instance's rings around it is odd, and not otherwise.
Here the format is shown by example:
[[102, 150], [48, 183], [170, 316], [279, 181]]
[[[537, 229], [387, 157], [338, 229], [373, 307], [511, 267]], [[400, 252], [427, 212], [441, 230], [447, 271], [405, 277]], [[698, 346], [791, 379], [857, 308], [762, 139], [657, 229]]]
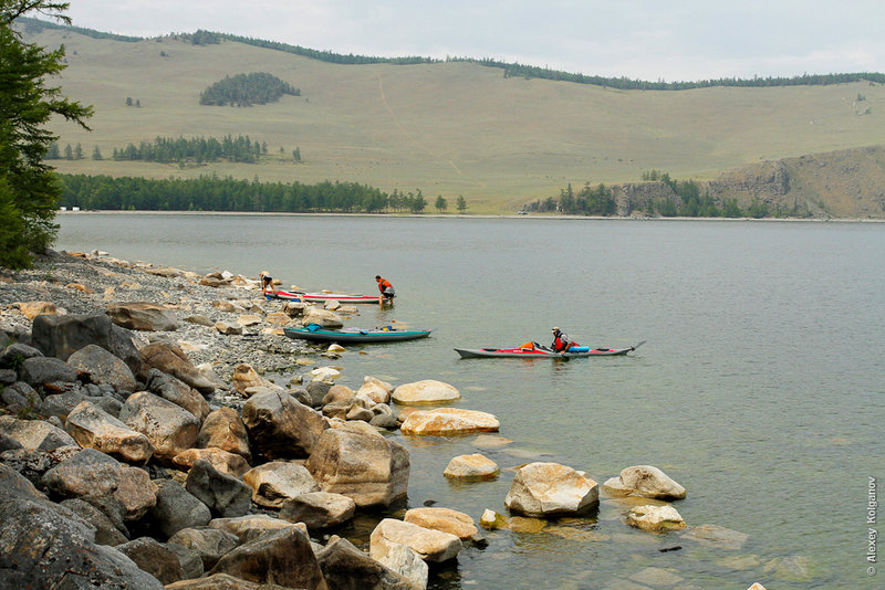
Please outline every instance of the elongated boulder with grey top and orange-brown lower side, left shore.
[[65, 429], [80, 446], [95, 449], [126, 463], [147, 463], [154, 454], [154, 445], [145, 434], [88, 401], [80, 402], [67, 414]]

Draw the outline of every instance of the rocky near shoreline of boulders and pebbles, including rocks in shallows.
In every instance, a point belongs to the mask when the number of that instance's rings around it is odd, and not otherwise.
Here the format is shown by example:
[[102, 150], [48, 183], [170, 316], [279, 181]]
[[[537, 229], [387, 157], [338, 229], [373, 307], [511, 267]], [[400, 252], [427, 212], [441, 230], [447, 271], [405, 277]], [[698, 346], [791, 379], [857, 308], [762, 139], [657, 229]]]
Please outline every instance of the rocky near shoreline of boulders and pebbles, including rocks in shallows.
[[[409, 452], [385, 433], [499, 428], [446, 408], [459, 392], [440, 381], [335, 384], [327, 362], [344, 349], [280, 337], [357, 313], [267, 302], [257, 280], [101, 252], [0, 274], [0, 586], [424, 589], [437, 563], [481, 547], [473, 519], [444, 507], [381, 519], [367, 547], [335, 535], [406, 497]], [[498, 475], [480, 453], [445, 472]], [[686, 491], [656, 467], [600, 485], [540, 462], [514, 470], [504, 504], [516, 516], [486, 510], [479, 525], [581, 515], [601, 489], [633, 498], [631, 527], [686, 527], [670, 504]], [[689, 533], [746, 541], [721, 527]]]

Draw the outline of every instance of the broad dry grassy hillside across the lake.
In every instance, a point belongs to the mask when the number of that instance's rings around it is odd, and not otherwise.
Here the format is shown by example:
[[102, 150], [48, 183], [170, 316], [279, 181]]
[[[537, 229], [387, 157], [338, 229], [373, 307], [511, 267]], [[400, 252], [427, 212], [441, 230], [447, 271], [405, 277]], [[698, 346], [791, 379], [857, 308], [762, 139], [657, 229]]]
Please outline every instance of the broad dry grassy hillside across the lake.
[[[126, 42], [59, 29], [27, 40], [65, 45], [64, 93], [96, 114], [92, 133], [63, 122], [53, 128], [61, 146], [79, 143], [87, 158], [95, 146], [108, 158], [157, 136], [249, 135], [269, 148], [256, 165], [53, 162], [71, 173], [332, 179], [421, 189], [430, 202], [462, 194], [469, 212], [510, 213], [569, 182], [635, 182], [650, 169], [706, 180], [766, 160], [885, 143], [885, 86], [868, 82], [618, 91], [504, 77], [475, 63], [337, 65], [232, 41]], [[250, 72], [273, 74], [301, 95], [247, 108], [199, 105], [209, 85]], [[126, 106], [127, 97], [140, 107]], [[296, 147], [300, 165], [291, 157]]]

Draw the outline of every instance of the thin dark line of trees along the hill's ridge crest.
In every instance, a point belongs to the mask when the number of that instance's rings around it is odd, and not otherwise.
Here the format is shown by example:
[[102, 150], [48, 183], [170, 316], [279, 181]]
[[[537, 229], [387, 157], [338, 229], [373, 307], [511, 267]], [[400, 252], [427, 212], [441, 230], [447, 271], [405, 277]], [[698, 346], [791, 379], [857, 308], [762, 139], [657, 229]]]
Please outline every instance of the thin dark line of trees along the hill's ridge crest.
[[[19, 19], [29, 31], [39, 31], [42, 28], [46, 29], [69, 29], [74, 32], [93, 36], [96, 39], [114, 39], [116, 41], [143, 41], [140, 38], [114, 35], [111, 33], [101, 33], [90, 29], [82, 29], [79, 27], [66, 27], [55, 24], [38, 19], [22, 18]], [[300, 45], [290, 45], [278, 41], [266, 41], [261, 39], [253, 39], [229, 33], [215, 33], [210, 31], [198, 30], [196, 33], [186, 33], [175, 35], [190, 41], [194, 44], [207, 45], [219, 43], [221, 40], [235, 41], [248, 45], [254, 45], [264, 49], [283, 51], [312, 57], [323, 62], [336, 64], [373, 64], [373, 63], [387, 63], [394, 65], [414, 65], [423, 63], [442, 63], [442, 62], [466, 62], [475, 63], [487, 67], [497, 67], [503, 71], [504, 77], [523, 77], [523, 78], [544, 78], [555, 80], [562, 82], [573, 82], [576, 84], [591, 84], [595, 86], [618, 88], [618, 89], [642, 89], [642, 91], [685, 91], [693, 88], [707, 88], [714, 86], [741, 86], [741, 87], [766, 87], [766, 86], [825, 86], [830, 84], [846, 84], [851, 82], [870, 82], [885, 84], [885, 74], [878, 72], [860, 72], [852, 74], [803, 74], [801, 76], [791, 77], [759, 77], [752, 78], [717, 78], [717, 80], [702, 80], [697, 82], [648, 82], [643, 80], [632, 80], [627, 77], [605, 77], [585, 74], [574, 74], [562, 72], [559, 70], [550, 70], [548, 67], [539, 67], [535, 65], [523, 65], [520, 63], [506, 63], [492, 59], [472, 59], [472, 57], [446, 57], [446, 60], [437, 60], [433, 57], [420, 56], [406, 56], [406, 57], [376, 57], [366, 55], [354, 55], [353, 53], [344, 55], [331, 51], [317, 51]]]

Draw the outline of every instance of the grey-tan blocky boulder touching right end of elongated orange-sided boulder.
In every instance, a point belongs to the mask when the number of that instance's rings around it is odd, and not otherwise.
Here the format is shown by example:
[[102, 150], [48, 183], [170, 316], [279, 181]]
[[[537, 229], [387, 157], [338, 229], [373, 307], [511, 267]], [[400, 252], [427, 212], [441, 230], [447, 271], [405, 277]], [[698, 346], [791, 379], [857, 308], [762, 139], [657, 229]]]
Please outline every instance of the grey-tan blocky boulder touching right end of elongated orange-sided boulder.
[[119, 420], [147, 436], [154, 445], [154, 457], [166, 463], [194, 446], [200, 433], [197, 417], [147, 391], [129, 396]]

